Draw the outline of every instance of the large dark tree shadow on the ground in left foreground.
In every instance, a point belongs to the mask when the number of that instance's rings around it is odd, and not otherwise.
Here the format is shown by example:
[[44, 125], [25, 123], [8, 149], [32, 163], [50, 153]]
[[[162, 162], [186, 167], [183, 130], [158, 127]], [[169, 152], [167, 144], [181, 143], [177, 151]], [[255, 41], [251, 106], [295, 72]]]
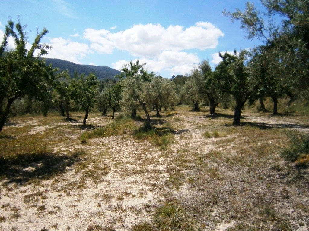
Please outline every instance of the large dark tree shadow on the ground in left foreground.
[[0, 156], [0, 179], [6, 179], [6, 184], [26, 184], [35, 179], [47, 180], [66, 172], [66, 167], [81, 161], [82, 153], [76, 151], [66, 155], [17, 154], [10, 159]]

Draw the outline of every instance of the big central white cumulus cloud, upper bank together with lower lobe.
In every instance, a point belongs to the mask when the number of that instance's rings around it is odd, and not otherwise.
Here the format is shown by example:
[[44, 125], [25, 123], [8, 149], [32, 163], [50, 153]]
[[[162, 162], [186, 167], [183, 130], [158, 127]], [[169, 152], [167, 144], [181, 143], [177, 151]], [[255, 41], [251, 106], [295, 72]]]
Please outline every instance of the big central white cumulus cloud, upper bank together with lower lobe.
[[[140, 62], [147, 63], [149, 71], [164, 70], [171, 75], [190, 73], [193, 65], [200, 62], [197, 55], [185, 51], [215, 48], [218, 38], [224, 36], [210, 22], [197, 22], [188, 28], [178, 25], [164, 28], [160, 24], [138, 24], [116, 33], [88, 28], [83, 35], [84, 39], [91, 42], [91, 49], [99, 53], [112, 54], [114, 49], [128, 51], [130, 55], [139, 57]], [[120, 70], [128, 62], [119, 60], [112, 63], [112, 66]]]

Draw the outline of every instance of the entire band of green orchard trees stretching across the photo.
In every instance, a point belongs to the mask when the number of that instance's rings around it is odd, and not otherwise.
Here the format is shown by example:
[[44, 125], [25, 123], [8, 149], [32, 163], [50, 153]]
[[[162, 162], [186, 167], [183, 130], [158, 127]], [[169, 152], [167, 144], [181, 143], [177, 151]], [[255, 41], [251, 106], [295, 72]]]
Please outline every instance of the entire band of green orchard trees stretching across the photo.
[[[39, 59], [50, 48], [40, 44], [47, 30], [37, 35], [28, 51], [23, 26], [18, 21], [15, 32], [14, 23], [9, 21], [0, 47], [0, 132], [12, 103], [26, 95], [43, 101], [45, 114], [53, 95], [63, 115], [65, 105], [67, 118], [70, 118], [69, 103], [73, 100], [86, 111], [84, 125], [94, 101], [100, 102], [103, 114], [110, 107], [113, 110], [112, 117], [120, 107], [133, 117], [138, 109], [142, 109], [147, 118], [147, 128], [150, 127], [149, 111], [155, 108], [159, 115], [160, 107], [175, 105], [179, 99], [176, 92], [180, 98], [192, 103], [196, 110], [206, 98], [211, 114], [219, 103], [223, 104], [232, 96], [235, 100], [235, 125], [240, 123], [241, 110], [248, 99], [260, 99], [263, 102], [264, 97], [271, 97], [274, 114], [277, 113], [277, 99], [283, 94], [291, 99], [296, 96], [308, 99], [308, 1], [261, 2], [267, 9], [263, 14], [250, 2], [243, 12], [236, 9], [236, 12], [223, 14], [231, 17], [232, 21], [240, 20], [241, 27], [247, 31], [247, 38], [260, 39], [263, 45], [251, 51], [240, 51], [239, 54], [235, 51], [234, 54], [220, 55], [222, 62], [214, 71], [207, 61], [203, 61], [190, 76], [176, 76], [173, 81], [156, 76], [153, 72], [148, 73], [143, 68], [144, 64], [130, 62], [117, 76], [120, 80], [102, 91], [98, 90], [99, 83], [94, 74], [85, 76], [75, 73], [74, 78], [68, 81], [55, 81], [59, 77], [66, 77], [67, 73], [54, 75], [56, 70]], [[265, 15], [268, 16], [267, 23], [263, 18]], [[274, 20], [276, 15], [281, 17], [277, 21]], [[14, 50], [7, 49], [9, 36], [15, 40]], [[35, 51], [38, 53], [36, 57]], [[183, 87], [176, 89], [175, 82], [183, 84]]]

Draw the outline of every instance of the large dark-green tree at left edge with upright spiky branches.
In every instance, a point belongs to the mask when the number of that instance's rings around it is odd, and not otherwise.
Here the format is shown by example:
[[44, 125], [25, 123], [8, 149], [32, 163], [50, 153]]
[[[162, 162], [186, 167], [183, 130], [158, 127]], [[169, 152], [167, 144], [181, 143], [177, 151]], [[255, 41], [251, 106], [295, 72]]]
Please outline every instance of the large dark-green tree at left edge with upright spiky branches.
[[[11, 20], [8, 21], [0, 46], [0, 132], [16, 99], [28, 95], [48, 103], [49, 86], [55, 78], [52, 66], [46, 66], [44, 60], [40, 59], [40, 56], [46, 55], [50, 48], [40, 43], [48, 31], [44, 28], [38, 33], [30, 49], [27, 50], [27, 36], [24, 29], [19, 20], [16, 24]], [[7, 47], [9, 37], [15, 42], [13, 50]], [[48, 109], [45, 107], [44, 115]]]

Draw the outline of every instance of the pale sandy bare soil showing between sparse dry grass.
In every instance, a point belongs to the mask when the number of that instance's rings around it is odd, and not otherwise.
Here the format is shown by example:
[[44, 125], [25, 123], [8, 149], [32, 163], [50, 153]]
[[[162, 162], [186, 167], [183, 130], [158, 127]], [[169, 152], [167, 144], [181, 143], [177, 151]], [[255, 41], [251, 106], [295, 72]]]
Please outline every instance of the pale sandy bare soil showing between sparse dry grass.
[[[243, 121], [262, 123], [265, 126], [290, 126], [306, 130], [298, 121], [286, 118], [259, 117], [246, 115]], [[90, 226], [112, 225], [115, 230], [129, 230], [141, 221], [151, 221], [155, 209], [167, 198], [184, 200], [193, 197], [195, 191], [187, 183], [179, 188], [171, 187], [170, 168], [173, 156], [180, 149], [197, 150], [207, 153], [214, 149], [218, 139], [233, 136], [210, 138], [205, 140], [205, 127], [199, 125], [210, 123], [205, 113], [177, 114], [175, 140], [167, 150], [160, 150], [148, 141], [133, 139], [129, 134], [107, 138], [91, 139], [87, 144], [63, 141], [54, 151], [86, 150], [90, 155], [87, 160], [80, 160], [67, 166], [66, 172], [38, 184], [23, 184], [2, 180], [0, 190], [0, 230], [84, 230]], [[173, 117], [168, 117], [166, 120]], [[104, 124], [110, 118], [90, 118], [88, 123]], [[163, 118], [163, 120], [165, 120]], [[288, 120], [288, 121], [287, 121]], [[34, 125], [29, 134], [49, 132], [59, 124], [41, 125], [40, 120], [29, 119], [26, 123], [12, 126]], [[10, 129], [7, 126], [5, 129]], [[72, 134], [71, 140], [78, 139], [79, 134]], [[82, 167], [84, 162], [86, 167]], [[33, 163], [23, 171], [34, 171], [40, 162]], [[106, 167], [107, 174], [104, 173]], [[175, 168], [177, 166], [174, 166]], [[78, 171], [77, 171], [78, 169]], [[95, 169], [95, 173], [91, 173]], [[186, 172], [187, 171], [187, 172]], [[190, 169], [184, 170], [190, 175]], [[91, 175], [92, 174], [92, 175]], [[229, 173], [233, 177], [233, 172]], [[198, 197], [198, 195], [196, 195]], [[309, 198], [308, 198], [309, 199]], [[214, 211], [214, 216], [216, 213]], [[234, 221], [217, 224], [214, 230], [233, 227]], [[205, 229], [208, 230], [208, 229]]]

